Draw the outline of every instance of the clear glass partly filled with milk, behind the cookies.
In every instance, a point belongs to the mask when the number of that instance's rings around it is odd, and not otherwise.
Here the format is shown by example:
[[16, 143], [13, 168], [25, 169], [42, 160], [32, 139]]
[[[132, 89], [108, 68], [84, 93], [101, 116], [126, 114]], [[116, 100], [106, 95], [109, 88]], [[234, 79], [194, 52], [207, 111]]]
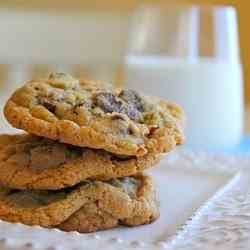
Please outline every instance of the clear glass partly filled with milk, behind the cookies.
[[126, 87], [180, 104], [187, 145], [237, 146], [244, 108], [235, 9], [144, 6], [132, 24]]

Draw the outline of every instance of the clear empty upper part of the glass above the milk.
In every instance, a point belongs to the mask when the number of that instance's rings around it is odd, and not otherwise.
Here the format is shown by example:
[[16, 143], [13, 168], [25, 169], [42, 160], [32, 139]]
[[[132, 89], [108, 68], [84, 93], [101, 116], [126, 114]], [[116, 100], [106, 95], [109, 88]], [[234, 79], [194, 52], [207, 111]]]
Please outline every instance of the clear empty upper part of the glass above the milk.
[[[141, 31], [142, 39], [134, 40], [129, 46], [132, 53], [137, 51], [144, 55], [165, 52], [166, 55], [192, 59], [203, 56], [241, 61], [237, 14], [236, 8], [229, 5], [142, 4], [134, 13], [135, 26], [130, 38], [133, 41]], [[163, 23], [166, 20], [170, 20], [168, 26], [176, 27], [165, 30]], [[152, 32], [160, 39], [151, 38], [149, 34]], [[170, 33], [160, 35], [164, 32]], [[172, 35], [167, 37], [166, 34]], [[157, 39], [163, 42], [157, 42]]]

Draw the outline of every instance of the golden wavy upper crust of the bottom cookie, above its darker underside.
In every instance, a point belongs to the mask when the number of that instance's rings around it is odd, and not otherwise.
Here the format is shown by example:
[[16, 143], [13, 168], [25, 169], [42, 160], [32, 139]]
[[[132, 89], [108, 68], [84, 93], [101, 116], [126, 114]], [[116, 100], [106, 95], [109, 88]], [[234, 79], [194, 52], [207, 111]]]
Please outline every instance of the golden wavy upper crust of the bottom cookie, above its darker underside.
[[143, 175], [88, 181], [59, 191], [1, 188], [0, 219], [44, 227], [60, 225], [66, 230], [66, 225], [73, 227], [71, 216], [90, 203], [124, 220], [147, 216], [158, 204], [151, 178]]

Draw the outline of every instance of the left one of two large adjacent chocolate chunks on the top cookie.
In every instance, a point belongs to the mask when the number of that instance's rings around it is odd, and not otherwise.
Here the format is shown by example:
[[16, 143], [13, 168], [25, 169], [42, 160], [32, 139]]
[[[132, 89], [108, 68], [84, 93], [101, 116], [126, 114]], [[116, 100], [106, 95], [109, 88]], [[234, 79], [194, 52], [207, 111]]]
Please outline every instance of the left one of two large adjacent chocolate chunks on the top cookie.
[[96, 96], [96, 105], [106, 113], [122, 113], [123, 104], [112, 93], [100, 93]]

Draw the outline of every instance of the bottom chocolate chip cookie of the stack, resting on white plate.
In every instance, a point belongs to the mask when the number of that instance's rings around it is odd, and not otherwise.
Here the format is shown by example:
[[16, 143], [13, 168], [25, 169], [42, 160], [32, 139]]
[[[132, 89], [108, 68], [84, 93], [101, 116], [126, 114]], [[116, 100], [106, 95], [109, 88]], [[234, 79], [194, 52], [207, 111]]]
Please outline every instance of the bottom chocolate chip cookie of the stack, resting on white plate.
[[144, 175], [58, 191], [0, 189], [0, 219], [65, 231], [150, 223], [159, 216], [158, 207], [152, 180]]

